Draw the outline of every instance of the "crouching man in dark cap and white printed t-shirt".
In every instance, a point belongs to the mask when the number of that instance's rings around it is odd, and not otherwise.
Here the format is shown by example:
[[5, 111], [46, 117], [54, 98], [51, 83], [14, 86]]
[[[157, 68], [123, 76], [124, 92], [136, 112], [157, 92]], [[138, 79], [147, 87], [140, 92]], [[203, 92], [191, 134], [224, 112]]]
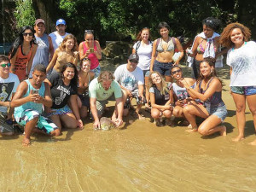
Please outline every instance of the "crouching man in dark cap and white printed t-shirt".
[[[117, 82], [119, 82], [121, 89], [124, 91], [125, 106], [130, 106], [130, 98], [135, 97], [137, 101], [137, 108], [135, 110], [138, 119], [144, 119], [139, 113], [143, 107], [144, 96], [144, 79], [143, 70], [137, 67], [139, 56], [137, 54], [131, 54], [128, 59], [128, 63], [117, 67], [113, 76]], [[128, 100], [127, 100], [128, 98]], [[129, 108], [124, 109], [124, 115], [129, 113]]]

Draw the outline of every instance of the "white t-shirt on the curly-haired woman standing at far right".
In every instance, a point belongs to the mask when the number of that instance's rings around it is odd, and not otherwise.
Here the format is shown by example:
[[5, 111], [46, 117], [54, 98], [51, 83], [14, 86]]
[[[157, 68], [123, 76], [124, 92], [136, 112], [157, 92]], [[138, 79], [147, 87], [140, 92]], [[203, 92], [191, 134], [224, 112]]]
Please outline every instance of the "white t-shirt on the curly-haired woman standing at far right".
[[227, 65], [232, 67], [230, 86], [255, 86], [256, 43], [249, 41], [241, 48], [229, 49]]

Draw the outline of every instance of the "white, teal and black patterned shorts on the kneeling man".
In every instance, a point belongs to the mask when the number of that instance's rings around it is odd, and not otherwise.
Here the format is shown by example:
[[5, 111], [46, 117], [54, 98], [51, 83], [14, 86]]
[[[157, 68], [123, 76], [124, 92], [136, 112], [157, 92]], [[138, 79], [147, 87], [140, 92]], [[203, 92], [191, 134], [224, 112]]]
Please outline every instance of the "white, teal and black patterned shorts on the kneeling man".
[[15, 113], [16, 122], [25, 126], [27, 122], [38, 117], [38, 129], [49, 134], [51, 131], [55, 131], [58, 127], [50, 120], [40, 115], [38, 111], [33, 111], [32, 109], [26, 109], [23, 112]]

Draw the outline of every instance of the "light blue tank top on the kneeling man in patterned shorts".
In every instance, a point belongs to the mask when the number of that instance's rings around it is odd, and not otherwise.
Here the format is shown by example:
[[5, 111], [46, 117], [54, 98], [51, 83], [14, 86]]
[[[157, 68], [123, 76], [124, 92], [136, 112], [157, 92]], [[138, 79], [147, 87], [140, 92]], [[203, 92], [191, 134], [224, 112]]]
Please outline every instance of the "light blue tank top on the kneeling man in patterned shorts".
[[[26, 94], [23, 97], [28, 96], [30, 94], [31, 90], [37, 90], [37, 89], [33, 88], [32, 84], [29, 81], [29, 79], [26, 79], [25, 82], [27, 84], [27, 90], [26, 90]], [[39, 96], [44, 97], [44, 93], [45, 93], [44, 82], [41, 84], [41, 87], [38, 90], [38, 93], [39, 93]], [[16, 107], [15, 108], [15, 113], [22, 113], [26, 109], [32, 109], [34, 111], [38, 111], [38, 113], [42, 113], [42, 111], [43, 111], [43, 104], [42, 103], [36, 103], [36, 102], [26, 102], [23, 105], [21, 105], [19, 107]]]

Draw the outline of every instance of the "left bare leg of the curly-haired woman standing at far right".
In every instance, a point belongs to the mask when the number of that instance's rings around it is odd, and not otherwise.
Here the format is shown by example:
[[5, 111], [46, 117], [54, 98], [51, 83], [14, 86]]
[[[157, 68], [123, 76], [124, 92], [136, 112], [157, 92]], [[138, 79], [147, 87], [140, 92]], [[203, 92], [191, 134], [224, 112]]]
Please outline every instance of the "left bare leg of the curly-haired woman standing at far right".
[[238, 127], [238, 136], [233, 138], [232, 141], [239, 142], [244, 139], [244, 127], [246, 123], [245, 109], [246, 109], [246, 96], [232, 93], [234, 102], [236, 104], [236, 122]]

